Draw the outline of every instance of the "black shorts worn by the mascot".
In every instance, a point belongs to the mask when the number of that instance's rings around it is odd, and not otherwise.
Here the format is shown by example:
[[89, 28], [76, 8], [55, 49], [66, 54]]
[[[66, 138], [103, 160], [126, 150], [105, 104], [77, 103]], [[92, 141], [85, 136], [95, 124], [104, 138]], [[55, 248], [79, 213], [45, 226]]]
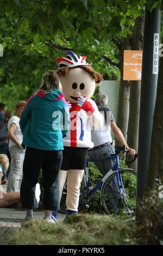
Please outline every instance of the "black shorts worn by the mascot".
[[61, 170], [79, 169], [86, 167], [87, 148], [64, 147]]

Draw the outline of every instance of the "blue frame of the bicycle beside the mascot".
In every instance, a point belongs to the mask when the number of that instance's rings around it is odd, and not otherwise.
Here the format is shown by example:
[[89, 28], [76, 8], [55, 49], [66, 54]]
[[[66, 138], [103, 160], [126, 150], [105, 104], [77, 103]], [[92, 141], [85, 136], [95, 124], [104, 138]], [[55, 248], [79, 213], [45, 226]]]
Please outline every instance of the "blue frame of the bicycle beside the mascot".
[[[119, 172], [120, 170], [120, 160], [119, 160], [119, 156], [115, 155], [115, 156], [109, 156], [107, 157], [107, 159], [109, 160], [116, 160], [114, 166], [111, 167], [111, 169], [108, 171], [108, 173], [106, 173], [103, 178], [101, 179], [101, 181], [98, 182], [98, 184], [96, 185], [95, 188], [93, 188], [93, 190], [89, 190], [89, 180], [88, 180], [88, 175], [86, 173], [86, 197], [90, 200], [93, 195], [96, 193], [96, 191], [102, 187], [103, 183], [105, 182], [105, 180], [114, 172], [116, 172], [116, 179], [117, 179], [117, 185], [118, 188], [120, 190], [120, 193], [125, 194], [124, 188], [123, 188], [123, 184], [122, 184], [122, 179], [121, 179], [121, 174]], [[89, 168], [88, 163], [89, 162], [93, 162], [93, 160], [88, 159], [87, 160], [87, 164], [86, 164], [86, 172], [88, 172], [87, 168]]]

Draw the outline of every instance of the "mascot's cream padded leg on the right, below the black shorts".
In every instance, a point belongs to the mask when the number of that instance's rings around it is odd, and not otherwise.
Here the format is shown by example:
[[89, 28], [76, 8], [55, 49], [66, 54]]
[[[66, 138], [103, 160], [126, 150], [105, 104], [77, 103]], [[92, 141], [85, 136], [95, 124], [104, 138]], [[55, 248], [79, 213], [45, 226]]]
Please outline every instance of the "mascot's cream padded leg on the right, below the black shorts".
[[84, 170], [68, 170], [67, 177], [67, 198], [66, 209], [78, 211], [80, 184], [82, 182]]

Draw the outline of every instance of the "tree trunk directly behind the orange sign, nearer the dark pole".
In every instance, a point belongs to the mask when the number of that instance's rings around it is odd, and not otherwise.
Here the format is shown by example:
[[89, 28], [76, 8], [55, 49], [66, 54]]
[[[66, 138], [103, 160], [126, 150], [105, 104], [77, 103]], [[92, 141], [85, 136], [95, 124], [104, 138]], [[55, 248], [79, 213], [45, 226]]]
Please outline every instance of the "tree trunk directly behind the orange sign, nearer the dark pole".
[[[145, 26], [145, 17], [137, 17], [133, 30], [133, 36], [130, 40], [131, 50], [142, 50], [143, 31]], [[140, 113], [140, 92], [141, 81], [130, 81], [130, 99], [129, 99], [129, 120], [127, 131], [127, 144], [130, 148], [138, 149], [139, 136], [139, 113]], [[129, 160], [130, 157], [127, 157]], [[128, 164], [129, 168], [137, 170], [137, 161]]]

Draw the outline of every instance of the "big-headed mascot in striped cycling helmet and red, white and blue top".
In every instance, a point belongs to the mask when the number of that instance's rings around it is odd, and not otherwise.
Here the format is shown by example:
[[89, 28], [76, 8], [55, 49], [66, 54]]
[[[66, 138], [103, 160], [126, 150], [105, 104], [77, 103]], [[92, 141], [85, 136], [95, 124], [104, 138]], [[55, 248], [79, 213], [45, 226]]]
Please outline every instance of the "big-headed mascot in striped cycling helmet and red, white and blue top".
[[[64, 150], [59, 172], [60, 197], [67, 175], [66, 214], [78, 214], [80, 183], [87, 160], [87, 149], [93, 148], [91, 127], [101, 127], [103, 116], [96, 103], [90, 99], [96, 84], [103, 78], [86, 63], [86, 56], [67, 51], [57, 58], [56, 71], [62, 84], [62, 92], [70, 108], [70, 130], [64, 137]], [[71, 104], [70, 104], [71, 103]], [[54, 214], [55, 215], [55, 214]]]

